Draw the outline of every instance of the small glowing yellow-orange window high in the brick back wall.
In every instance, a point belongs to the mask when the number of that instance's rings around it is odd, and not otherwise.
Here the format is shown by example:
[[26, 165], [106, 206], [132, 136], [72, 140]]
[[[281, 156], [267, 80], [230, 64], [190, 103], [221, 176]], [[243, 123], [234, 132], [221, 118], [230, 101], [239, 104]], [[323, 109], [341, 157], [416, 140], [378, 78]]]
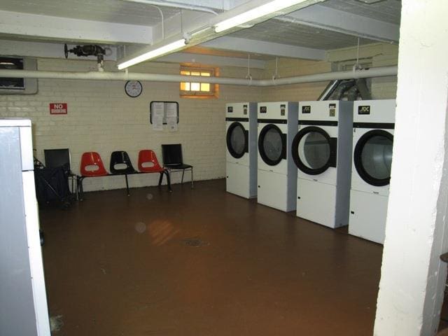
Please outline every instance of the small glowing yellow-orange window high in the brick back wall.
[[[181, 75], [183, 76], [213, 77], [216, 74], [217, 69], [181, 67]], [[217, 98], [218, 85], [211, 83], [181, 82], [180, 94], [183, 98]]]

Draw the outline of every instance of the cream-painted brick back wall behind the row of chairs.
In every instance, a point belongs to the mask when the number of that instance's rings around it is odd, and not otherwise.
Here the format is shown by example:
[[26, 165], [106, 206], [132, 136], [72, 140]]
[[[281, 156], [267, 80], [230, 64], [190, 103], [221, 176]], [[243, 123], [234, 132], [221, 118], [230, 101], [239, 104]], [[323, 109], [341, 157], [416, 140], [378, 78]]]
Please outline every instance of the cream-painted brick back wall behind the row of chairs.
[[[106, 62], [106, 70], [113, 70]], [[39, 70], [95, 71], [96, 62], [85, 60], [38, 59]], [[179, 64], [148, 63], [130, 71], [179, 74]], [[222, 67], [221, 76], [246, 76], [246, 69]], [[253, 69], [255, 77], [262, 71]], [[225, 104], [257, 101], [256, 87], [221, 85], [218, 99], [181, 99], [179, 83], [142, 82], [140, 97], [127, 97], [122, 81], [38, 80], [38, 94], [0, 95], [0, 117], [30, 118], [33, 123], [36, 156], [43, 160], [46, 148], [70, 148], [73, 172], [79, 172], [80, 156], [86, 151], [102, 155], [106, 169], [112, 151], [127, 151], [134, 168], [144, 148], [153, 149], [160, 161], [161, 144], [181, 143], [184, 161], [195, 167], [195, 180], [225, 176]], [[149, 124], [153, 100], [179, 102], [179, 130], [155, 132]], [[68, 114], [50, 115], [49, 104], [68, 104]], [[174, 182], [181, 174], [173, 174]], [[189, 179], [188, 174], [187, 178]], [[130, 176], [130, 186], [151, 186], [158, 174]], [[124, 188], [123, 176], [86, 179], [85, 190]]]

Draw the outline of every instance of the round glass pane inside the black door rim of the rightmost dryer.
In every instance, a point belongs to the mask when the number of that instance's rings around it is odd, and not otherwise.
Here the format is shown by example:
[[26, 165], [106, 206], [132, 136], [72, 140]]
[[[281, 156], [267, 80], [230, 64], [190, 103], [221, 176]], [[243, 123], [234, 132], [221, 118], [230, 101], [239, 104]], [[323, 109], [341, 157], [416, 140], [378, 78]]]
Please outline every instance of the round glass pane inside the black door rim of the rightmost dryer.
[[365, 172], [373, 179], [382, 180], [391, 177], [392, 165], [391, 139], [374, 136], [365, 141], [361, 151], [361, 162]]

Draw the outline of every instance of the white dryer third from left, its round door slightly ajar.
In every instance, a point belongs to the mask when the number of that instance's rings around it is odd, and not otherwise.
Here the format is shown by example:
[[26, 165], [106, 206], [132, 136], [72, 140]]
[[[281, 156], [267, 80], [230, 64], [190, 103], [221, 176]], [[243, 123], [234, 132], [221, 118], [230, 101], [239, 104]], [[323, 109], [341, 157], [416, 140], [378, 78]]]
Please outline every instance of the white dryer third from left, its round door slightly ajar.
[[297, 166], [297, 216], [349, 225], [353, 102], [300, 102], [291, 153]]

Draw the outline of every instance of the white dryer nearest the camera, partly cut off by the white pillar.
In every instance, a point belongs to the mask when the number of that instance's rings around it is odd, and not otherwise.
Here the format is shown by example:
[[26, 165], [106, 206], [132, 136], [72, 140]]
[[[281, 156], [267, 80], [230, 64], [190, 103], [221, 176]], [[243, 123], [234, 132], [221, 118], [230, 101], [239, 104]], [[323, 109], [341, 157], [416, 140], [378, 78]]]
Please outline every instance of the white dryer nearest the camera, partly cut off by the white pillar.
[[395, 100], [353, 105], [349, 234], [384, 243], [391, 179]]

